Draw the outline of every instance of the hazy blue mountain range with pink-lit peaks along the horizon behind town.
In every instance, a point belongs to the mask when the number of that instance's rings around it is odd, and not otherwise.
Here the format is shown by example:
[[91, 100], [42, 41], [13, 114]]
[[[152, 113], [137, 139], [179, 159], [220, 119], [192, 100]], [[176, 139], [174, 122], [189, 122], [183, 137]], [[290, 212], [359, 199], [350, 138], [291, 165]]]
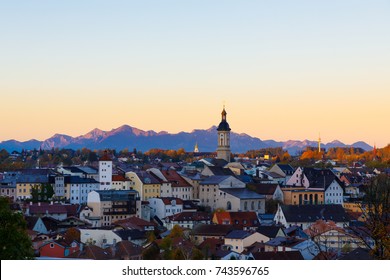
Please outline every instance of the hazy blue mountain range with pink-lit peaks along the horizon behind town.
[[[16, 140], [8, 140], [0, 142], [0, 149], [7, 151], [21, 151], [22, 149], [52, 149], [52, 148], [70, 148], [81, 149], [88, 148], [107, 149], [113, 148], [122, 150], [128, 148], [132, 150], [136, 148], [140, 151], [147, 151], [152, 148], [174, 149], [184, 148], [186, 151], [192, 151], [195, 143], [198, 143], [200, 152], [215, 151], [217, 148], [217, 127], [212, 126], [209, 129], [195, 129], [191, 132], [179, 132], [171, 134], [166, 131], [155, 132], [153, 130], [144, 131], [129, 125], [123, 125], [111, 131], [103, 131], [98, 128], [88, 132], [87, 134], [72, 137], [64, 134], [55, 134], [52, 137], [44, 140], [29, 140], [19, 142]], [[304, 150], [307, 146], [316, 147], [317, 141], [310, 140], [260, 140], [245, 133], [231, 132], [231, 148], [232, 152], [246, 152], [248, 150], [256, 150], [261, 148], [283, 147], [291, 155]], [[330, 143], [321, 144], [322, 148], [334, 147], [355, 147], [362, 148], [366, 151], [372, 150], [373, 147], [363, 141], [346, 145], [338, 140]]]

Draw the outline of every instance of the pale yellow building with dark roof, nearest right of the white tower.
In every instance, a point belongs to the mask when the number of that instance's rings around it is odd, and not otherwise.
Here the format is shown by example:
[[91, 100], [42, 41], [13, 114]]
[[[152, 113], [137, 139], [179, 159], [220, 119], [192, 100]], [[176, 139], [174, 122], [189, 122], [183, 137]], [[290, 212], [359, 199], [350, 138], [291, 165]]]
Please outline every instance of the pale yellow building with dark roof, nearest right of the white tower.
[[141, 200], [161, 196], [161, 183], [155, 175], [147, 171], [127, 172], [131, 188], [138, 191]]

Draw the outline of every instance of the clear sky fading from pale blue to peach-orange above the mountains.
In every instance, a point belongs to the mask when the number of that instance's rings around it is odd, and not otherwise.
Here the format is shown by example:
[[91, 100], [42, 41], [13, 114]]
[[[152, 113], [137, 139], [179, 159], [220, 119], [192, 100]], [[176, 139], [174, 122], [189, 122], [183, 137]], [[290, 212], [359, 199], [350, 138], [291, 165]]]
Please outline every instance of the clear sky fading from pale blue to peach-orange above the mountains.
[[128, 124], [390, 143], [390, 1], [1, 1], [0, 141]]

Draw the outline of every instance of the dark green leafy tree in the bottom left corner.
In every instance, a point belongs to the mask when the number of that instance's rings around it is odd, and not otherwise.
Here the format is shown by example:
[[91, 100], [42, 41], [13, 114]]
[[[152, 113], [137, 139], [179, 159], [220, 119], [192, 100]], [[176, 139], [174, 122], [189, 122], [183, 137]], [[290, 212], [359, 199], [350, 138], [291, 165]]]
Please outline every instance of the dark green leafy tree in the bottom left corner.
[[0, 259], [27, 260], [33, 257], [34, 251], [23, 215], [12, 212], [8, 199], [0, 197]]

